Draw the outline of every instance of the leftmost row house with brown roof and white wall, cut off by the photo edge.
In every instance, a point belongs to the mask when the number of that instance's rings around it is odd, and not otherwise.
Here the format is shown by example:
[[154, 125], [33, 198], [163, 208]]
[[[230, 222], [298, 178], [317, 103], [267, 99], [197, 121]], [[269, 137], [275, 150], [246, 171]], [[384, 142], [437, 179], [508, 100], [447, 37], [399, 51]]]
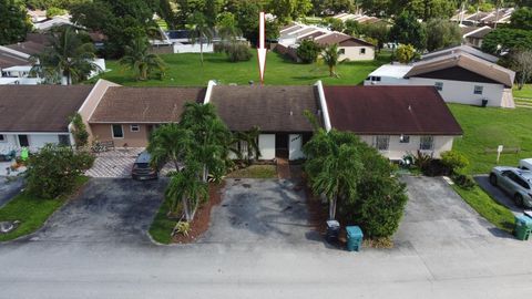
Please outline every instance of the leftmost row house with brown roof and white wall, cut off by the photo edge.
[[72, 116], [85, 102], [92, 85], [0, 86], [0, 153], [47, 143], [73, 144]]

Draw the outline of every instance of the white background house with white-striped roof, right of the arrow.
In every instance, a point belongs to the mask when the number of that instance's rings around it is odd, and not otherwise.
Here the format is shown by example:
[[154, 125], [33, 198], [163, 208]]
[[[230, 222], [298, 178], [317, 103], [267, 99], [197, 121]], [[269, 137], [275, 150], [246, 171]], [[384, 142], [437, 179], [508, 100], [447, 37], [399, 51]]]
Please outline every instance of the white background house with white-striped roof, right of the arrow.
[[280, 30], [275, 50], [294, 60], [298, 60], [297, 48], [303, 40], [314, 40], [323, 47], [338, 44], [338, 50], [341, 52], [340, 60], [367, 61], [375, 59], [375, 47], [371, 43], [318, 25], [294, 23]]

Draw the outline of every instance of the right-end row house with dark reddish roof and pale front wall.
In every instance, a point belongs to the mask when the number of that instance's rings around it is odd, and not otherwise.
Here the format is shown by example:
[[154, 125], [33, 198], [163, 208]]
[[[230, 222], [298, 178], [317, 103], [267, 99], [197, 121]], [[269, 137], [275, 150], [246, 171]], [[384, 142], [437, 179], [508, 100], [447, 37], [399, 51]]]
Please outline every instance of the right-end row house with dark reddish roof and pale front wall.
[[418, 151], [439, 158], [462, 128], [430, 86], [326, 86], [330, 126], [354, 132], [390, 159]]

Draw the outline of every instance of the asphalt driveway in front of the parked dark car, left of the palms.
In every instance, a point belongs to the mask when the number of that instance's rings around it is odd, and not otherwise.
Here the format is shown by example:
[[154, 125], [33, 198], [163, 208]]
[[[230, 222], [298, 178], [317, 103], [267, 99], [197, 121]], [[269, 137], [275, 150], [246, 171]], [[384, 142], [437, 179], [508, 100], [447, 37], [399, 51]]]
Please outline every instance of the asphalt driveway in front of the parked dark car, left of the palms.
[[147, 228], [161, 205], [165, 179], [91, 179], [53, 214], [31, 240], [48, 243], [151, 244]]

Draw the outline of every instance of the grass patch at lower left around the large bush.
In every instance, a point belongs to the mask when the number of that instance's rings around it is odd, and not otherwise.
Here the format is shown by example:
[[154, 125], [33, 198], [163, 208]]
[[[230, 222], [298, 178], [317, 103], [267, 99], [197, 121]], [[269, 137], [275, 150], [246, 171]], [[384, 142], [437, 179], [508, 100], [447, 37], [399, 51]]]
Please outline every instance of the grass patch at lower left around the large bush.
[[[81, 177], [78, 181], [76, 190], [88, 181], [89, 177]], [[70, 195], [65, 195], [57, 199], [42, 199], [25, 192], [17, 195], [0, 208], [0, 221], [19, 220], [21, 223], [16, 230], [0, 235], [0, 241], [12, 240], [35, 231], [58, 208], [63, 206], [69, 197]]]

